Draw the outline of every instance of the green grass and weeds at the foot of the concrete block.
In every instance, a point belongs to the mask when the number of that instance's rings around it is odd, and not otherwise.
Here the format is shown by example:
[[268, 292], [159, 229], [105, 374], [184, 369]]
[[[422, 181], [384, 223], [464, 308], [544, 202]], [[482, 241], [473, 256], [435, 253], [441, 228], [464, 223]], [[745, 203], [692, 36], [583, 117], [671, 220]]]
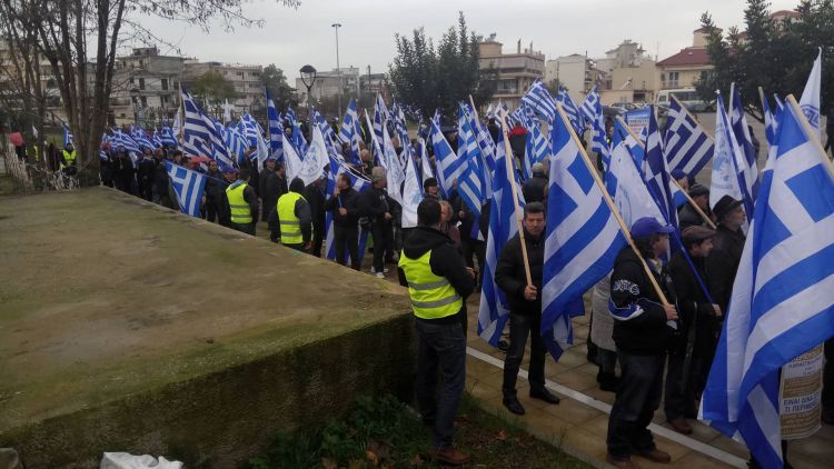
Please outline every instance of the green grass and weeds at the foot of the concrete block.
[[[478, 408], [465, 396], [458, 410], [456, 446], [471, 455], [466, 467], [588, 468], [557, 447], [539, 441], [516, 421]], [[436, 468], [428, 456], [429, 437], [414, 410], [393, 397], [359, 398], [344, 420], [325, 428], [279, 433], [249, 469], [272, 468]]]

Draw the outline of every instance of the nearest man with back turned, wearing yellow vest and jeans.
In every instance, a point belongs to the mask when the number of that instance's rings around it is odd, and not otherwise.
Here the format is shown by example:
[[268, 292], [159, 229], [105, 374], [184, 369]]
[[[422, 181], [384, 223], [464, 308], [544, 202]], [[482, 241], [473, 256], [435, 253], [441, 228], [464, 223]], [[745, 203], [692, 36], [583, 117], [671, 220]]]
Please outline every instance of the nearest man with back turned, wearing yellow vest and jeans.
[[[417, 227], [405, 239], [399, 282], [408, 287], [417, 331], [417, 403], [441, 462], [469, 460], [451, 445], [455, 415], [466, 381], [466, 298], [475, 272], [464, 266], [449, 238], [438, 230], [440, 204], [417, 207]], [[438, 396], [437, 375], [441, 376]]]

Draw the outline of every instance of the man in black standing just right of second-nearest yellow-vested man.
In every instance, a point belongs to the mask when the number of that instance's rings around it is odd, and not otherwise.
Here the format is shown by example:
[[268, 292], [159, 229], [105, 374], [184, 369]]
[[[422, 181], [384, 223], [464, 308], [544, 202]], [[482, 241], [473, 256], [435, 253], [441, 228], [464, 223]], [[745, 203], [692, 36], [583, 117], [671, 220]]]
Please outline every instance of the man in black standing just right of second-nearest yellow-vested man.
[[341, 173], [336, 178], [336, 190], [325, 203], [325, 208], [332, 212], [334, 245], [336, 246], [336, 262], [345, 266], [345, 248], [350, 255], [350, 267], [359, 270], [359, 209], [357, 200], [359, 192], [350, 187], [350, 177]]

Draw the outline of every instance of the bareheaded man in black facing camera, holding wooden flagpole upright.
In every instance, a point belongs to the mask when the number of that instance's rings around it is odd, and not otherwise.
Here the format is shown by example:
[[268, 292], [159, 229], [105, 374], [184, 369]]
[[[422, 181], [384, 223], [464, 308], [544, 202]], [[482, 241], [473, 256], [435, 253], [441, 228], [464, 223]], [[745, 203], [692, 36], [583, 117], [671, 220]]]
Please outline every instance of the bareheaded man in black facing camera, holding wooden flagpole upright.
[[524, 407], [516, 396], [518, 368], [524, 359], [527, 337], [532, 337], [530, 397], [549, 403], [559, 403], [559, 398], [545, 388], [545, 348], [542, 335], [542, 272], [545, 261], [545, 207], [542, 202], [530, 202], [524, 207], [524, 242], [527, 247], [533, 285], [527, 283], [527, 275], [522, 256], [522, 240], [516, 234], [504, 245], [495, 268], [495, 283], [504, 291], [509, 302], [509, 350], [504, 361], [504, 406], [513, 413], [524, 415]]

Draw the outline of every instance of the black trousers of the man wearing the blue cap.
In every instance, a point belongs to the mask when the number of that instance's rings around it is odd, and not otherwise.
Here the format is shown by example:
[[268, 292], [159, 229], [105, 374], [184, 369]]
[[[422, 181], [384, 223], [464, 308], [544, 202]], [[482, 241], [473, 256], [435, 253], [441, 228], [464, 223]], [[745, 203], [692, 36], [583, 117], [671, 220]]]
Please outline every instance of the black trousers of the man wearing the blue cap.
[[655, 449], [648, 426], [661, 405], [665, 353], [633, 355], [617, 351], [623, 375], [608, 418], [608, 453], [627, 459]]

